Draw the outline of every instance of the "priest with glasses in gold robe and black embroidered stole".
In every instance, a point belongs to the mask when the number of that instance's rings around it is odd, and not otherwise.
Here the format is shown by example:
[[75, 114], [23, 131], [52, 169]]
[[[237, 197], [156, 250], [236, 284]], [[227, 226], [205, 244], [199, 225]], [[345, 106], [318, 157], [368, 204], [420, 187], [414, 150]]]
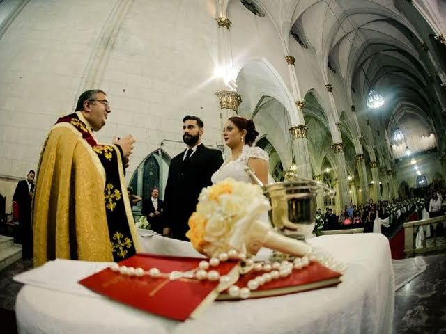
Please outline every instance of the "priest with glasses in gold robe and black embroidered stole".
[[49, 131], [33, 202], [35, 267], [55, 258], [118, 262], [139, 250], [124, 179], [134, 138], [95, 138], [110, 112], [102, 90], [87, 90]]

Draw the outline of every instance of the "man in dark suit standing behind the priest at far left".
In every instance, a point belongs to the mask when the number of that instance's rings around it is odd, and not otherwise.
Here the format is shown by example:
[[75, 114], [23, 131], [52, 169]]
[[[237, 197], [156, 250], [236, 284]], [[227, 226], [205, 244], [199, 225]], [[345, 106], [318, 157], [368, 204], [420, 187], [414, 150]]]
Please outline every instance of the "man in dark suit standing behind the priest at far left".
[[33, 258], [33, 225], [31, 223], [31, 200], [34, 194], [34, 177], [30, 170], [26, 180], [19, 181], [15, 188], [13, 201], [19, 206], [20, 239], [22, 240], [22, 257]]

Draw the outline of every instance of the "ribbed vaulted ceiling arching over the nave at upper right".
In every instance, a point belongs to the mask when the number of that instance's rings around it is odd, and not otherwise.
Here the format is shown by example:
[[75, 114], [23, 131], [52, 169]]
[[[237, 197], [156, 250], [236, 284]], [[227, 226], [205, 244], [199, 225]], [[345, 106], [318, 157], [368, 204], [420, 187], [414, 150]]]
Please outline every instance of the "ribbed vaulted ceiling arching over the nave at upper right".
[[[446, 1], [429, 1], [446, 13]], [[370, 120], [371, 127], [383, 134], [386, 130], [388, 136], [397, 127], [410, 127], [444, 138], [446, 98], [441, 85], [446, 81], [446, 48], [413, 3], [262, 0], [261, 4], [285, 43], [292, 29], [314, 50], [325, 77], [331, 75], [330, 63], [362, 121]], [[376, 111], [366, 105], [371, 88], [385, 99]]]

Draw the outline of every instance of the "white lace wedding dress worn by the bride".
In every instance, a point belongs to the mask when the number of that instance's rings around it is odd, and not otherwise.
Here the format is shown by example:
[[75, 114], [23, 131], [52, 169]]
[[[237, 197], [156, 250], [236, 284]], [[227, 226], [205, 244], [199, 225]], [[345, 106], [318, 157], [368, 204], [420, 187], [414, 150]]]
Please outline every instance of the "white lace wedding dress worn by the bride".
[[268, 161], [268, 153], [256, 146], [244, 145], [240, 156], [236, 160], [226, 160], [211, 177], [212, 183], [216, 184], [228, 177], [236, 181], [252, 183], [251, 177], [245, 172], [249, 158], [257, 158]]

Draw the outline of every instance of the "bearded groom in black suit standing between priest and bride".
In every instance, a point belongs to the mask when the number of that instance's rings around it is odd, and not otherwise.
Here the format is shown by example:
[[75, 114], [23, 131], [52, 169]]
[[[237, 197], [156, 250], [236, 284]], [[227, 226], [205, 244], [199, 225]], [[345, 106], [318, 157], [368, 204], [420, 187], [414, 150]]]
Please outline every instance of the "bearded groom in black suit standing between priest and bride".
[[210, 177], [223, 164], [222, 152], [201, 143], [203, 121], [197, 116], [183, 118], [183, 141], [187, 150], [171, 160], [164, 196], [164, 235], [189, 241], [187, 221], [197, 207], [201, 189], [210, 186]]

